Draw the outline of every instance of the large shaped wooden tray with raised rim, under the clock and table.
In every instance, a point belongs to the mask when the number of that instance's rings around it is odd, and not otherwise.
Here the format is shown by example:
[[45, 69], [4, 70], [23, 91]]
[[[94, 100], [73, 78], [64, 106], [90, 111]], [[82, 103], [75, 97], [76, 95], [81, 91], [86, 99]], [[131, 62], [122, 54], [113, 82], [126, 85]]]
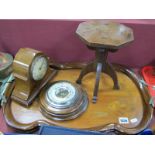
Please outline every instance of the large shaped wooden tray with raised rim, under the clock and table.
[[[81, 67], [81, 65], [60, 65], [60, 69], [57, 66], [60, 70], [53, 81], [75, 82]], [[91, 102], [95, 73], [85, 76], [82, 86], [88, 93], [89, 105], [80, 117], [69, 121], [47, 119], [40, 112], [39, 98], [37, 98], [29, 108], [14, 101], [8, 102], [3, 107], [7, 124], [22, 131], [30, 131], [42, 124], [48, 124], [82, 130], [117, 130], [123, 134], [139, 133], [149, 125], [152, 118], [153, 109], [148, 104], [150, 97], [134, 72], [121, 65], [115, 64], [114, 68], [117, 72], [120, 90], [113, 90], [112, 79], [102, 74], [96, 104]], [[128, 121], [124, 122], [124, 118]]]

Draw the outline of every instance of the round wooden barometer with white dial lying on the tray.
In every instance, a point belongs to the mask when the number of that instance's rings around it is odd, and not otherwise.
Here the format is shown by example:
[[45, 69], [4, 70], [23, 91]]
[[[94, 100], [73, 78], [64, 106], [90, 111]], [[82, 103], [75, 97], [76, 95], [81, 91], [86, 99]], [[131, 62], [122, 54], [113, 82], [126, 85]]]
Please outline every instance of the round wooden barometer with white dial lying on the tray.
[[69, 81], [56, 81], [40, 94], [42, 114], [53, 120], [70, 120], [80, 116], [88, 106], [86, 91]]

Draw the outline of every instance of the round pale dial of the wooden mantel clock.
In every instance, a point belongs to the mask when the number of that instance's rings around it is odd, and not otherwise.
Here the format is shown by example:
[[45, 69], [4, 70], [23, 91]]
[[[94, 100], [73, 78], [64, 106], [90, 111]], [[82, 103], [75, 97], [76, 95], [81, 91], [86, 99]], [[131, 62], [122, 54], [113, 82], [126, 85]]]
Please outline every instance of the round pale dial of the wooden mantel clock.
[[44, 56], [37, 56], [31, 66], [31, 75], [33, 80], [39, 81], [41, 80], [48, 69], [48, 61]]

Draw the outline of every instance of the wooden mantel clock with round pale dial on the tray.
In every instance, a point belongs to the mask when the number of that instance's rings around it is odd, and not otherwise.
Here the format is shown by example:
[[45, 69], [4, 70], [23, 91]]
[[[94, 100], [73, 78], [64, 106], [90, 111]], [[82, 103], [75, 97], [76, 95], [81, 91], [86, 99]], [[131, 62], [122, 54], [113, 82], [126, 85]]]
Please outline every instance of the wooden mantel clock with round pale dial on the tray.
[[55, 73], [49, 69], [48, 58], [42, 52], [19, 49], [13, 62], [15, 88], [12, 99], [28, 106]]

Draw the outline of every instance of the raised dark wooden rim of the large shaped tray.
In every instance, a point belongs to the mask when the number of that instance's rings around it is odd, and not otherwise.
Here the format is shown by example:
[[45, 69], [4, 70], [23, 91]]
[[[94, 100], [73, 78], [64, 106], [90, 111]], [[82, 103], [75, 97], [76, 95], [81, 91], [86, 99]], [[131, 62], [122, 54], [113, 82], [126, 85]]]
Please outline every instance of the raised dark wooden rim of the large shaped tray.
[[[81, 69], [86, 65], [87, 65], [86, 63], [67, 63], [67, 64], [51, 63], [50, 64], [50, 66], [52, 68], [57, 69], [57, 70]], [[146, 116], [144, 117], [144, 115], [143, 115], [144, 121], [141, 121], [141, 123], [140, 123], [140, 124], [144, 124], [144, 125], [142, 125], [142, 127], [140, 129], [137, 129], [137, 128], [126, 128], [119, 124], [112, 123], [112, 124], [104, 124], [104, 125], [93, 127], [93, 128], [84, 128], [81, 130], [100, 131], [100, 132], [106, 132], [106, 131], [112, 130], [112, 131], [119, 132], [121, 134], [140, 133], [141, 131], [143, 131], [145, 128], [147, 128], [149, 126], [149, 124], [152, 120], [152, 117], [153, 117], [153, 108], [148, 104], [148, 102], [150, 100], [149, 92], [148, 92], [146, 86], [144, 86], [140, 82], [140, 80], [138, 79], [138, 76], [136, 76], [136, 74], [134, 73], [134, 71], [132, 69], [130, 69], [129, 67], [126, 67], [124, 65], [114, 64], [114, 63], [113, 63], [113, 67], [116, 71], [126, 74], [137, 86], [137, 88], [143, 98], [143, 102], [145, 102], [144, 104], [146, 104], [146, 107], [147, 107], [147, 108], [144, 108], [144, 110], [145, 110], [144, 113], [147, 112], [147, 117]], [[11, 102], [9, 99], [8, 102], [6, 104], [4, 104], [4, 106], [3, 106], [4, 118], [5, 118], [6, 123], [10, 127], [14, 128], [18, 131], [31, 132], [32, 130], [34, 131], [35, 129], [40, 127], [41, 125], [61, 126], [61, 125], [57, 125], [57, 123], [52, 120], [50, 120], [50, 122], [48, 122], [46, 120], [37, 120], [37, 121], [34, 121], [32, 123], [27, 123], [27, 124], [20, 123], [20, 122], [16, 121], [16, 119], [14, 118], [11, 108], [9, 108], [10, 104], [11, 104]], [[139, 127], [139, 125], [138, 125], [138, 127]]]

